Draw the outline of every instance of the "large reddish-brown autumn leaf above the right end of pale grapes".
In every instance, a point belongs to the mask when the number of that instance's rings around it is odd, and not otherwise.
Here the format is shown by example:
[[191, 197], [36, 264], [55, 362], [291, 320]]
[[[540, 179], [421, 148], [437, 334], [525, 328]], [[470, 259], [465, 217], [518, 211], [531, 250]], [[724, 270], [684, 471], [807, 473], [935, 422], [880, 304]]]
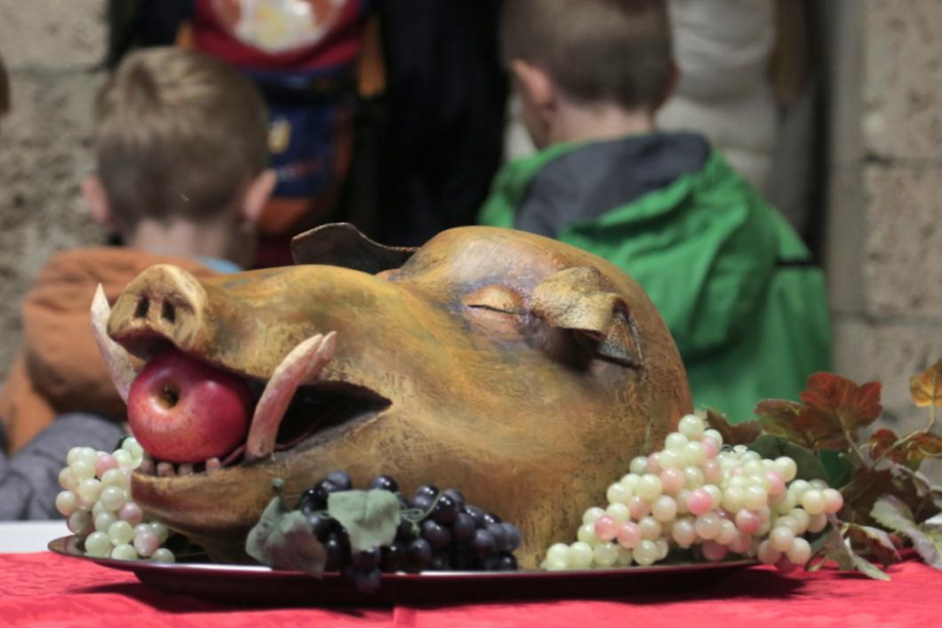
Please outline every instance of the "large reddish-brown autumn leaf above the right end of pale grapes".
[[832, 373], [815, 373], [799, 394], [805, 408], [792, 428], [806, 434], [819, 449], [840, 450], [850, 445], [857, 429], [869, 426], [883, 411], [880, 382], [857, 386]]

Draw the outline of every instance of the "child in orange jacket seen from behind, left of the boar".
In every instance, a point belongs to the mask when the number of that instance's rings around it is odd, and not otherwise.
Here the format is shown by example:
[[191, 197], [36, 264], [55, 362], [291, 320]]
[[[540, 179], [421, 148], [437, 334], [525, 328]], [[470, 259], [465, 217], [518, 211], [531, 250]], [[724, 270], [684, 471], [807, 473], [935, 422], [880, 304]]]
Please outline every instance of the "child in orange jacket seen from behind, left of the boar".
[[[111, 450], [125, 407], [91, 335], [109, 301], [148, 266], [198, 277], [252, 260], [274, 175], [258, 91], [221, 61], [180, 48], [125, 57], [95, 103], [91, 216], [125, 246], [57, 253], [24, 300], [24, 346], [0, 392], [0, 519], [55, 517], [57, 474], [75, 445]], [[80, 412], [80, 413], [79, 413]], [[55, 419], [55, 420], [54, 420]]]

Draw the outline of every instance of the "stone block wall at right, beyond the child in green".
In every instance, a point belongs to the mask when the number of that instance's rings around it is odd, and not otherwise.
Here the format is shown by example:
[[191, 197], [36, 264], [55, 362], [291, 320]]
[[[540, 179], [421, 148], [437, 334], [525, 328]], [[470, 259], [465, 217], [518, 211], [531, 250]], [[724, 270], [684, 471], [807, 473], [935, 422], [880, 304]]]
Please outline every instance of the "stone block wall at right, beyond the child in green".
[[927, 420], [908, 378], [942, 359], [942, 1], [842, 0], [833, 17], [836, 371], [884, 382], [885, 426], [907, 431]]

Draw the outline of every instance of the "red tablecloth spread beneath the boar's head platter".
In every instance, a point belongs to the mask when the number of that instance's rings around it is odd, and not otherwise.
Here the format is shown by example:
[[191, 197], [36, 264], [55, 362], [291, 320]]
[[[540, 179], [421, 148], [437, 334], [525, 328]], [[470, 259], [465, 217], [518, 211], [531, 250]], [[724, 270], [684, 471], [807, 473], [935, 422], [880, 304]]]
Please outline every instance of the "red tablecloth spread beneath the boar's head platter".
[[247, 609], [138, 582], [133, 573], [51, 553], [0, 555], [0, 625], [25, 626], [942, 626], [942, 573], [917, 560], [892, 582], [824, 570], [780, 575], [740, 569], [696, 593], [607, 601], [398, 606], [389, 609]]

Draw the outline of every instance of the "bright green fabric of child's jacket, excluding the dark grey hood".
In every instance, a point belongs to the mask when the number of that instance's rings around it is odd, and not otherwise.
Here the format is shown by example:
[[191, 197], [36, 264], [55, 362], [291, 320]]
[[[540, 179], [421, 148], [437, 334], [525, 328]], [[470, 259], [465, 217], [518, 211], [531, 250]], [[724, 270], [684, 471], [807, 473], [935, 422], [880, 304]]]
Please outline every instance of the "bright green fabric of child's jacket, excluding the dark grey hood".
[[[557, 145], [508, 164], [479, 222], [512, 228], [536, 174], [580, 148]], [[642, 285], [674, 335], [698, 408], [739, 422], [759, 399], [797, 399], [808, 375], [830, 368], [823, 273], [788, 222], [716, 151], [702, 168], [573, 220], [557, 237]]]

